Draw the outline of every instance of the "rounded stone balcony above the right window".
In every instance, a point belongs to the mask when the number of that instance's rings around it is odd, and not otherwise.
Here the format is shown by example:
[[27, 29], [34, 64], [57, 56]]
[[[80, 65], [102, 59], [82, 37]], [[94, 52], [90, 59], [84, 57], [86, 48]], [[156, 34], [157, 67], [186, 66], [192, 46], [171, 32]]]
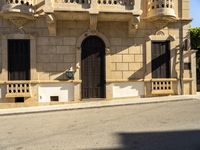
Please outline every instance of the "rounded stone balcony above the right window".
[[147, 17], [153, 21], [175, 20], [174, 0], [149, 0]]

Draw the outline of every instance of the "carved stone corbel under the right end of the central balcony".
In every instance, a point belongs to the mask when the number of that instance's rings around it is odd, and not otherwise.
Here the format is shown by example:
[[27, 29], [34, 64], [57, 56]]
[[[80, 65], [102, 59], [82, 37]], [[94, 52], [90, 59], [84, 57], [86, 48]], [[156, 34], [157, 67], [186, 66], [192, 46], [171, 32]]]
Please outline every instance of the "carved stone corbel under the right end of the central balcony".
[[128, 33], [129, 36], [133, 36], [138, 29], [138, 23], [140, 22], [139, 16], [133, 16], [128, 22]]

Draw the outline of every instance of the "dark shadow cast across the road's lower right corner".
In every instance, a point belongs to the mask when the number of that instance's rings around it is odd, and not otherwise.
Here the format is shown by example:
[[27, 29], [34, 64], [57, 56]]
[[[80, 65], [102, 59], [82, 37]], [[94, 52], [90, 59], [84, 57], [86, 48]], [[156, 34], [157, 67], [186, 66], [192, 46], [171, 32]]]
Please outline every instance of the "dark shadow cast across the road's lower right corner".
[[200, 150], [200, 130], [118, 133], [116, 136], [122, 146], [112, 150]]

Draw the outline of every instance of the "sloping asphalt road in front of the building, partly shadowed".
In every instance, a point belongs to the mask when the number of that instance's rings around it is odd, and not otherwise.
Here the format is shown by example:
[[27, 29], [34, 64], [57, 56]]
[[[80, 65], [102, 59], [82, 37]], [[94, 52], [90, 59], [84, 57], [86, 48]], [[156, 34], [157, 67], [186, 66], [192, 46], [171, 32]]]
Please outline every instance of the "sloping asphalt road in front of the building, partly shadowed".
[[200, 150], [200, 100], [0, 116], [0, 150]]

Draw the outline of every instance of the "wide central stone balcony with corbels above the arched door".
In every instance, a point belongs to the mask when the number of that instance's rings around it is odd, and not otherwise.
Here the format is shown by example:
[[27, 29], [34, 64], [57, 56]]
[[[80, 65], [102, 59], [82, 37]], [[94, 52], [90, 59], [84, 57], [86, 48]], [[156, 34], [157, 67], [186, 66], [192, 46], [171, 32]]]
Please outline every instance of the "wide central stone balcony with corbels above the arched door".
[[141, 0], [45, 0], [44, 12], [51, 35], [56, 35], [56, 20], [89, 20], [94, 31], [98, 21], [123, 21], [131, 35], [142, 14]]

